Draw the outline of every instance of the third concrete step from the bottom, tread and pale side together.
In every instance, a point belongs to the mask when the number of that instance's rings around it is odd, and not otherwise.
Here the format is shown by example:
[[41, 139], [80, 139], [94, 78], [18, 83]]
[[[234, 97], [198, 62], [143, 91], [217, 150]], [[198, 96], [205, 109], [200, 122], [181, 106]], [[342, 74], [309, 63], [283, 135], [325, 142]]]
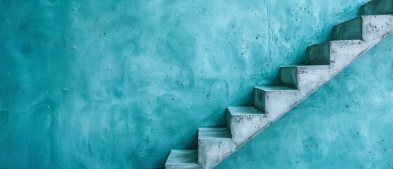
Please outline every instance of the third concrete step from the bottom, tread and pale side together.
[[266, 115], [255, 107], [228, 107], [226, 111], [226, 124], [236, 146], [248, 142], [267, 125]]

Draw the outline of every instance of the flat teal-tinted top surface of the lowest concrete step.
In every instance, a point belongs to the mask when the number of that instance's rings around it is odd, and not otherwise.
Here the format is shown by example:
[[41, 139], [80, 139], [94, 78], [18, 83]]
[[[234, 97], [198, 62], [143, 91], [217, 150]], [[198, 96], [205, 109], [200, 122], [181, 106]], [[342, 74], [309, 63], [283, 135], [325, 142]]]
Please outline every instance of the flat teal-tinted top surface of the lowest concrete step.
[[167, 158], [166, 165], [192, 164], [198, 165], [197, 149], [172, 149]]

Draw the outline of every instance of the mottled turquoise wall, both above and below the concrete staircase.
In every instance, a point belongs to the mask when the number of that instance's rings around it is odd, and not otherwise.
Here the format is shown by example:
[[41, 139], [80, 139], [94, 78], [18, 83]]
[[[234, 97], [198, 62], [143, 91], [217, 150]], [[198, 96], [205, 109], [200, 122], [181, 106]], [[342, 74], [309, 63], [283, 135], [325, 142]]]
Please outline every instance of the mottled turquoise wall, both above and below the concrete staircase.
[[[0, 168], [160, 168], [367, 0], [0, 3]], [[392, 168], [388, 37], [218, 168]]]

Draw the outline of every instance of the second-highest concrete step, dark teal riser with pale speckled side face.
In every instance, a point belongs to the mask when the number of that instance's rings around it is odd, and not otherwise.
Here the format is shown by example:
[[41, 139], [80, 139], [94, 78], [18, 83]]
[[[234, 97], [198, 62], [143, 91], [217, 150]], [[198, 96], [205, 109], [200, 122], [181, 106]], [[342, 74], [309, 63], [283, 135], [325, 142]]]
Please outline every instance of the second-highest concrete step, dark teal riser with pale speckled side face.
[[393, 27], [393, 15], [363, 15], [333, 27], [331, 40], [362, 39], [373, 42]]

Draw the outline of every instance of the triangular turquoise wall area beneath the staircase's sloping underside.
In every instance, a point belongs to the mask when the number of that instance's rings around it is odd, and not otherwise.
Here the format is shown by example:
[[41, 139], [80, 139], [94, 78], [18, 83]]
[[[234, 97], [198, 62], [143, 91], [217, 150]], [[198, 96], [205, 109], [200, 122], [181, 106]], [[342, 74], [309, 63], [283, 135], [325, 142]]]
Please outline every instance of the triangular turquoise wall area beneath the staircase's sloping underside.
[[219, 164], [393, 168], [393, 35]]

